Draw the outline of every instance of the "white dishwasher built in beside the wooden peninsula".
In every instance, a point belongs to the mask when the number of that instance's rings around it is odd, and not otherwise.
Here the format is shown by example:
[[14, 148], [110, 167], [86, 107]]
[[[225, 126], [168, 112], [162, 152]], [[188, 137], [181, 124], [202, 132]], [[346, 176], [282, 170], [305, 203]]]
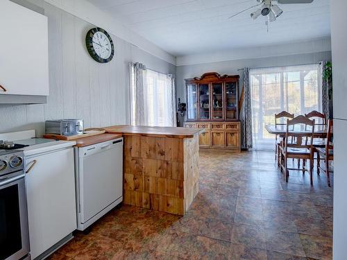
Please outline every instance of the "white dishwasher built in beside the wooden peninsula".
[[123, 200], [123, 138], [74, 147], [77, 229], [92, 223]]

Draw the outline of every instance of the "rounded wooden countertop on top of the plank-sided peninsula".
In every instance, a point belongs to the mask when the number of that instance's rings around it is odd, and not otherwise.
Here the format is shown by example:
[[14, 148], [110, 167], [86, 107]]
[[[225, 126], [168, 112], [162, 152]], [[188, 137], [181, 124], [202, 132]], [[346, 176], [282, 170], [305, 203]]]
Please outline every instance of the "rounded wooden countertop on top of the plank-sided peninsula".
[[192, 138], [204, 132], [201, 128], [168, 128], [158, 126], [114, 125], [102, 128], [108, 133], [123, 135], [140, 135], [146, 137]]

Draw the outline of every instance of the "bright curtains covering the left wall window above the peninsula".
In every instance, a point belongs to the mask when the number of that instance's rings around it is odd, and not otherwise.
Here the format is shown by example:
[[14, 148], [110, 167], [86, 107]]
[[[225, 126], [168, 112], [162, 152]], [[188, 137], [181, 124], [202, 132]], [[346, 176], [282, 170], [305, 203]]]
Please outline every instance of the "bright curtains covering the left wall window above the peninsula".
[[130, 110], [132, 125], [176, 126], [174, 77], [131, 63]]

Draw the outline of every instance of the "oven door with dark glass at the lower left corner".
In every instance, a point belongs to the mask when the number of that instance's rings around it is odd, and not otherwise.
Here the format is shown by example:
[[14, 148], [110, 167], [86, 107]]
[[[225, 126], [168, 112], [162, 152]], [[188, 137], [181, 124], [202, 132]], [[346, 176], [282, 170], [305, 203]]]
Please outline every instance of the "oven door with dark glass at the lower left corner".
[[[22, 172], [21, 172], [22, 173]], [[0, 180], [0, 259], [21, 259], [29, 252], [24, 173]]]

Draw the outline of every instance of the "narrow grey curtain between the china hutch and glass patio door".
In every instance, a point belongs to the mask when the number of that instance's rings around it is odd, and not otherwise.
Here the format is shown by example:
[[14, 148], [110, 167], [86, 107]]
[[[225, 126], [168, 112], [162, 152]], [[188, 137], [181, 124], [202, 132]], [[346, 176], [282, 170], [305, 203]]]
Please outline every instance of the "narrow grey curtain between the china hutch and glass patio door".
[[244, 102], [241, 112], [242, 121], [242, 148], [252, 148], [252, 105], [251, 89], [249, 85], [249, 69], [244, 69]]

